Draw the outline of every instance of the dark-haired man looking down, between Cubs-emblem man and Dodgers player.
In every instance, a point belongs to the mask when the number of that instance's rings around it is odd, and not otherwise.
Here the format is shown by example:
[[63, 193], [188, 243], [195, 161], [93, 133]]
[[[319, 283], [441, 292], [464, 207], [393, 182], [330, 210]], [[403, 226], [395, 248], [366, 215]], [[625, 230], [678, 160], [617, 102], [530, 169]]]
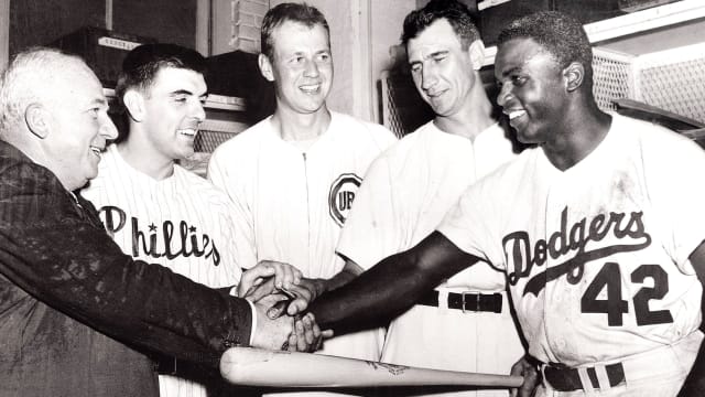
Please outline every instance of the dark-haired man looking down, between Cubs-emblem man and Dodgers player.
[[[362, 268], [421, 242], [468, 185], [517, 155], [491, 117], [492, 106], [478, 74], [484, 46], [466, 6], [433, 0], [413, 11], [404, 21], [402, 42], [414, 84], [436, 116], [381, 154], [365, 176], [337, 247]], [[397, 318], [387, 331], [381, 360], [509, 374], [524, 354], [510, 310], [505, 273], [478, 264], [451, 277]]]

